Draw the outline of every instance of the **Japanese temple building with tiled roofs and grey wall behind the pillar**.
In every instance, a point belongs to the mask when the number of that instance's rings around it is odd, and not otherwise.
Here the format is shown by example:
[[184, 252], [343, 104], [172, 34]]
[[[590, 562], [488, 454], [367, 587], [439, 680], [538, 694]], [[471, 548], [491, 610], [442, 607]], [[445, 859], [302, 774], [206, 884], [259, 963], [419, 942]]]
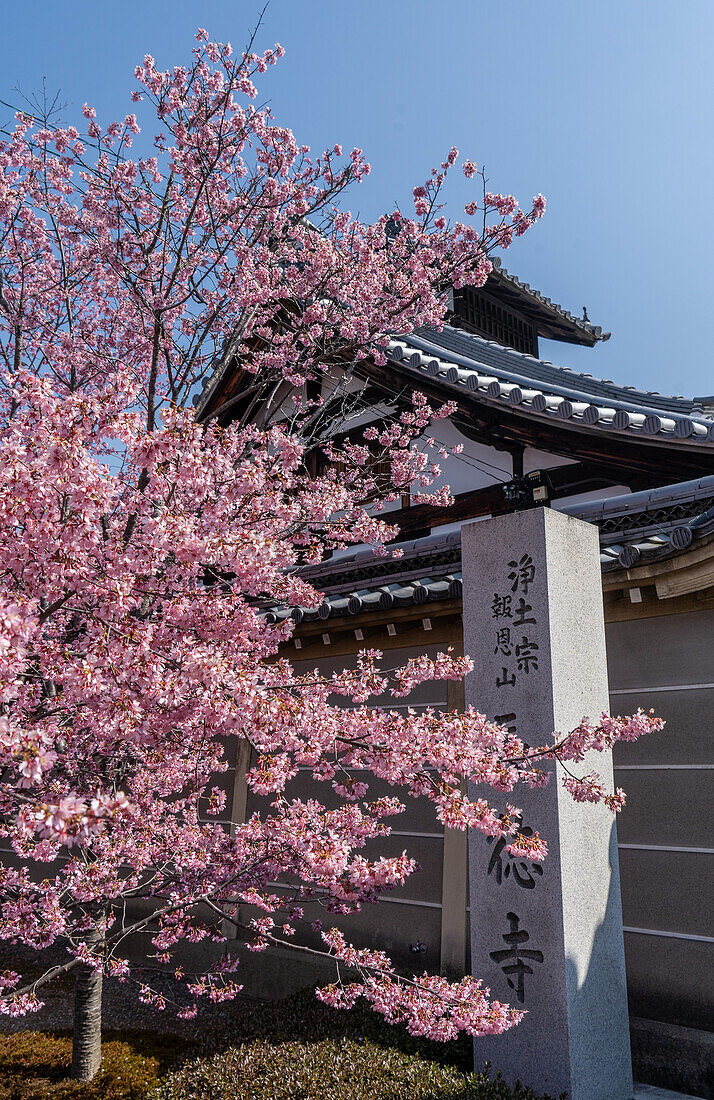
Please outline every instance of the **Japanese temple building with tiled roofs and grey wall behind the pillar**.
[[[406, 496], [388, 513], [400, 559], [364, 548], [305, 571], [325, 600], [293, 613], [286, 654], [299, 670], [330, 672], [364, 647], [384, 650], [389, 666], [447, 645], [462, 651], [464, 521], [545, 505], [597, 526], [612, 712], [652, 707], [667, 719], [663, 733], [615, 752], [628, 795], [617, 824], [635, 1071], [712, 1097], [714, 398], [642, 392], [540, 358], [541, 340], [594, 346], [607, 338], [496, 266], [483, 288], [453, 294], [441, 331], [395, 338], [386, 365], [367, 359], [327, 372], [326, 408], [338, 393], [359, 395], [350, 430], [409, 407], [418, 389], [455, 403], [429, 435], [463, 450], [442, 463], [451, 506]], [[222, 363], [198, 416], [229, 422], [246, 408], [246, 388], [240, 364]], [[408, 705], [457, 708], [463, 685], [422, 684]], [[234, 821], [261, 804], [243, 774], [239, 762]], [[308, 789], [307, 778], [293, 785], [296, 795]], [[388, 855], [404, 848], [422, 872], [342, 925], [397, 965], [469, 972], [465, 836], [444, 833], [430, 804], [410, 802], [381, 844]], [[261, 956], [259, 969], [255, 992], [266, 980], [288, 989], [316, 977], [279, 952]]]

